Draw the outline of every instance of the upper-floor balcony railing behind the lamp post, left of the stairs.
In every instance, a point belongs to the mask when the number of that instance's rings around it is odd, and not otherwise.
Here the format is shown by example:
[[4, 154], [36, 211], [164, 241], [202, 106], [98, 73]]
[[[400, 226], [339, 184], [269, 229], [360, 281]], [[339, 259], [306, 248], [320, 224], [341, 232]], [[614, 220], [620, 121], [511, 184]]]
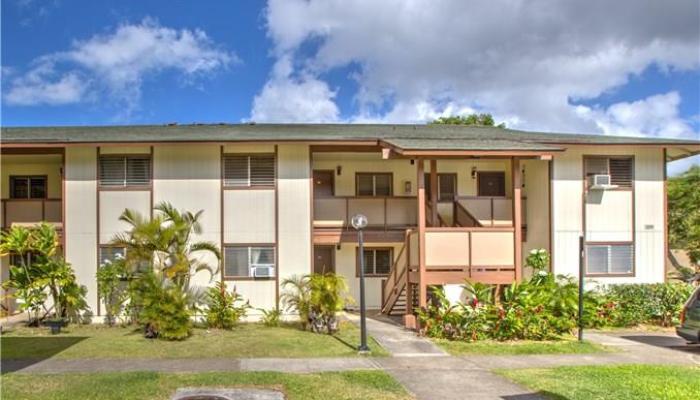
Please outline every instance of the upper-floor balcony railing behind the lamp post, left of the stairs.
[[314, 199], [314, 227], [350, 228], [350, 218], [361, 213], [368, 229], [404, 229], [416, 226], [415, 197], [317, 197]]

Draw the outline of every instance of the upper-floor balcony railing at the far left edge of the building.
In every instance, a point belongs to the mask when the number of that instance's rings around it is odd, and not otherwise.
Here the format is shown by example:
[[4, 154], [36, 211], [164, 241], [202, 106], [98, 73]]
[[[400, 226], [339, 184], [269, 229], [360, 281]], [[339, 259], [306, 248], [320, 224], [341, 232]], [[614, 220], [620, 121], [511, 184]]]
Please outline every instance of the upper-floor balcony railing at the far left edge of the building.
[[61, 199], [2, 199], [2, 227], [34, 224], [41, 221], [60, 224]]

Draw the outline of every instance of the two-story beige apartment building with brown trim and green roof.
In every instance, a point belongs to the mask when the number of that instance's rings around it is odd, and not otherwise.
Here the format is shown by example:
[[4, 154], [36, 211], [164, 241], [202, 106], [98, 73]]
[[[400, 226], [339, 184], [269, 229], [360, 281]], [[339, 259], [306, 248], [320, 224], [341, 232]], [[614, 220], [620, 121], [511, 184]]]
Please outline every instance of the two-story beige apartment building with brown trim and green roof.
[[[101, 314], [95, 272], [124, 249], [125, 208], [203, 210], [198, 239], [256, 308], [280, 282], [335, 272], [370, 308], [411, 315], [430, 285], [507, 284], [529, 250], [600, 283], [665, 279], [666, 163], [700, 141], [443, 125], [168, 125], [3, 128], [1, 225], [55, 223]], [[349, 219], [365, 214], [365, 249]], [[2, 260], [3, 278], [9, 259]], [[7, 303], [5, 307], [12, 308]], [[407, 318], [410, 323], [411, 318]]]

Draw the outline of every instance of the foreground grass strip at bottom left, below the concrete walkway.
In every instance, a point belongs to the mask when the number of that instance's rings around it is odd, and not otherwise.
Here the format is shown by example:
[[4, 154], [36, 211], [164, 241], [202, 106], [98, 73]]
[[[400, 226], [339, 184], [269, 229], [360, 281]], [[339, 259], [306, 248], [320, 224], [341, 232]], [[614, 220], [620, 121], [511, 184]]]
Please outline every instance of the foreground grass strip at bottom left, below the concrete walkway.
[[294, 399], [408, 400], [411, 397], [382, 371], [283, 374], [229, 372], [166, 374], [119, 372], [23, 375], [2, 378], [2, 398], [15, 400], [170, 399], [183, 387], [259, 387], [282, 390]]

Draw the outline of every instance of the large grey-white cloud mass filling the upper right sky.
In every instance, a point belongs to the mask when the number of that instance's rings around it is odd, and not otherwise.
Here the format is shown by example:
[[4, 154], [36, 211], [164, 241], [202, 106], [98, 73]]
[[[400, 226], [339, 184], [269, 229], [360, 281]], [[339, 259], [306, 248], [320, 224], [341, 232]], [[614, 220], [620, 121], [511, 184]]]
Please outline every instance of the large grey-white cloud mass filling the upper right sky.
[[[594, 132], [598, 121], [572, 99], [614, 90], [651, 65], [700, 67], [698, 8], [696, 0], [271, 0], [266, 19], [272, 54], [293, 60], [290, 76], [321, 81], [357, 66], [351, 121], [475, 109], [523, 129]], [[622, 125], [622, 107], [610, 112]]]

